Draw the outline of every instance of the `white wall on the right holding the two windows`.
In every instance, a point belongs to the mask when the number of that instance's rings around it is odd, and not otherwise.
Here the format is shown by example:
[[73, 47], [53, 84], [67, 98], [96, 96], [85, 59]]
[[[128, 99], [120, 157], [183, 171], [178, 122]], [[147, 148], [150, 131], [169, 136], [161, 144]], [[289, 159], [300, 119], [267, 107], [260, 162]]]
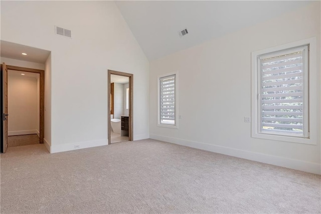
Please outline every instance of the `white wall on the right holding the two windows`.
[[[251, 138], [251, 52], [317, 37], [311, 142]], [[320, 171], [320, 2], [150, 62], [150, 137], [289, 168]], [[179, 71], [179, 128], [157, 124], [157, 76]]]

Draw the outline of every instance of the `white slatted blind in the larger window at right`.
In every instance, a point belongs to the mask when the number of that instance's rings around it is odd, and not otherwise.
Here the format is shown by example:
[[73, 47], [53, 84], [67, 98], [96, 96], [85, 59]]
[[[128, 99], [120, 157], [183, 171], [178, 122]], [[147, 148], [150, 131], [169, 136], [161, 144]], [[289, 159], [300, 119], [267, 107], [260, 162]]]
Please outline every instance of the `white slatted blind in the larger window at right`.
[[308, 46], [259, 57], [261, 133], [308, 136]]

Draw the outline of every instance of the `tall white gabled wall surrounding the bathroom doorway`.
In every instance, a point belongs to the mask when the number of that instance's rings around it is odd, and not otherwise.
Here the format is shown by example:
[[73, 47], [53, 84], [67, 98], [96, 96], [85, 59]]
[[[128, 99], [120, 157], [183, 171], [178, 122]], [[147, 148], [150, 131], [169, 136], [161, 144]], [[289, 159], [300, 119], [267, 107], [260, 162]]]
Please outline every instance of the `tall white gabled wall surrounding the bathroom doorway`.
[[51, 51], [51, 152], [107, 144], [108, 69], [134, 75], [133, 139], [149, 137], [149, 62], [114, 2], [2, 1], [1, 39]]

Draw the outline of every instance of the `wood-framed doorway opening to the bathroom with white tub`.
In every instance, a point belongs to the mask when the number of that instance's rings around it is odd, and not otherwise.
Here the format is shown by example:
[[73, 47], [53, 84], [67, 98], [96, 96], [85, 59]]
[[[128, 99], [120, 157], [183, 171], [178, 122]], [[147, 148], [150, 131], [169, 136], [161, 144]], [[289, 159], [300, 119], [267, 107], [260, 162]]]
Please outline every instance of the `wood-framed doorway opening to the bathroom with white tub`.
[[108, 70], [108, 144], [132, 141], [133, 75]]

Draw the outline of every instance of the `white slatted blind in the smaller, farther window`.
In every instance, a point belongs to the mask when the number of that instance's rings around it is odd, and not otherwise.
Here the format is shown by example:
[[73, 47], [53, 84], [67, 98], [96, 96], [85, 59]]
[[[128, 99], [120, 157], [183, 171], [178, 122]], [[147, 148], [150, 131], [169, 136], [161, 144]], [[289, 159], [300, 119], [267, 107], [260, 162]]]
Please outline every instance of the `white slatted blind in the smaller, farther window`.
[[176, 124], [175, 81], [175, 74], [159, 78], [159, 122], [161, 124]]

